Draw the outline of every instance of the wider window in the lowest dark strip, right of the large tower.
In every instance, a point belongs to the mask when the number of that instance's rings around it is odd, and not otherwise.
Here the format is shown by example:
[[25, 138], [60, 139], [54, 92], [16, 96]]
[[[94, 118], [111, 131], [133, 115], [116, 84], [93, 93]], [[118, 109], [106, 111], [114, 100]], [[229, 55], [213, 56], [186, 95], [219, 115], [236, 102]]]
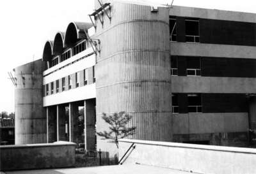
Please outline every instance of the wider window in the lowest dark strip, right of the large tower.
[[188, 94], [188, 112], [202, 112], [202, 98], [200, 94]]

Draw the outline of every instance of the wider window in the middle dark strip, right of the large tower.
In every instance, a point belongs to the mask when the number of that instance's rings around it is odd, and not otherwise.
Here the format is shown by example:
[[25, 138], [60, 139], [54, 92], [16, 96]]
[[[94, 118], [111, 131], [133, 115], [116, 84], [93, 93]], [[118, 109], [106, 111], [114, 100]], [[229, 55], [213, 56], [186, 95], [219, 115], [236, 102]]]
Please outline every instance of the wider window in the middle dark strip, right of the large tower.
[[187, 75], [201, 76], [200, 57], [188, 57], [187, 59]]

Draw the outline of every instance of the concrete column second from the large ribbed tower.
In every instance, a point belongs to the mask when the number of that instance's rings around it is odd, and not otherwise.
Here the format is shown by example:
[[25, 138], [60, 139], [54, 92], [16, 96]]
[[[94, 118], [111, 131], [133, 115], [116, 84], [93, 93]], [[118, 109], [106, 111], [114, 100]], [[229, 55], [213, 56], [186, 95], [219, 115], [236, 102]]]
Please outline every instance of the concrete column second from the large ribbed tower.
[[74, 143], [79, 143], [78, 140], [78, 105], [77, 103], [70, 103], [70, 141]]

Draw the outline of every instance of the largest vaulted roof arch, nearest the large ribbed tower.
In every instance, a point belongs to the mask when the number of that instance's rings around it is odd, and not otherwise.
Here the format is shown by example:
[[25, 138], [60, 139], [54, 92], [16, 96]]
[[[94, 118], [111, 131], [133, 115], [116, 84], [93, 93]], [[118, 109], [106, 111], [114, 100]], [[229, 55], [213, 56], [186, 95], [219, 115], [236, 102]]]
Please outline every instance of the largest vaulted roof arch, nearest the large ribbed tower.
[[87, 22], [71, 22], [68, 24], [64, 40], [65, 47], [72, 46], [77, 40], [85, 39], [84, 30], [87, 31], [90, 27], [92, 27], [92, 24]]

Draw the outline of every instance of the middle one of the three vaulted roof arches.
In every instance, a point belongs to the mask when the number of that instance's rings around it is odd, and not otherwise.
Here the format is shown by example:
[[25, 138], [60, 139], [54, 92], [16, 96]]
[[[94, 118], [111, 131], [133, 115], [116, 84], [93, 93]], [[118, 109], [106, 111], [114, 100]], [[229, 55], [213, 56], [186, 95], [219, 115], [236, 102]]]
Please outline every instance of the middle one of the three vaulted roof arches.
[[65, 37], [65, 33], [63, 33], [63, 32], [56, 33], [54, 41], [53, 41], [53, 46], [52, 46], [52, 54], [53, 55], [61, 54], [63, 52], [64, 37]]

